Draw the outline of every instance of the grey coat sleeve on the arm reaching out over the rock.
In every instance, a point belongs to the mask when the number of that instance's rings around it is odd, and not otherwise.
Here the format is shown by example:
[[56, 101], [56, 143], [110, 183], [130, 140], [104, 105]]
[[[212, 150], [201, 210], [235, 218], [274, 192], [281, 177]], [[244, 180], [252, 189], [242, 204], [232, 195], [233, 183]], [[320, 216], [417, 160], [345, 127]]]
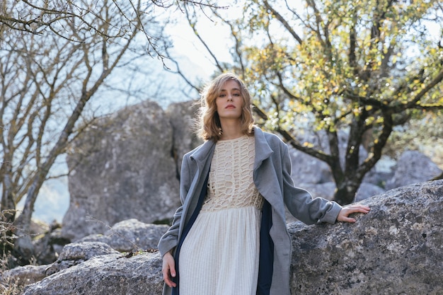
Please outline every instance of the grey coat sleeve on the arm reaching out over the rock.
[[334, 224], [342, 207], [321, 197], [313, 199], [308, 191], [295, 187], [291, 177], [291, 158], [286, 144], [282, 144], [281, 152], [284, 204], [289, 212], [305, 224], [322, 222]]

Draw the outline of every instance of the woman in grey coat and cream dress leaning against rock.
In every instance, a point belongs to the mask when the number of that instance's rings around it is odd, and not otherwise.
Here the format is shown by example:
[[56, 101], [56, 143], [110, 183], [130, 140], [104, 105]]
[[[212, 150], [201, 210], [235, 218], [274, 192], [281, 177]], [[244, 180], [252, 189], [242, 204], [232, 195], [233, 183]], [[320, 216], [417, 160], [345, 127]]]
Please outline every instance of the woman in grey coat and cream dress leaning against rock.
[[163, 294], [289, 295], [284, 204], [306, 224], [355, 222], [348, 216], [369, 207], [294, 187], [287, 145], [253, 125], [251, 96], [234, 74], [202, 93], [200, 119], [205, 143], [183, 157], [183, 205], [159, 242]]

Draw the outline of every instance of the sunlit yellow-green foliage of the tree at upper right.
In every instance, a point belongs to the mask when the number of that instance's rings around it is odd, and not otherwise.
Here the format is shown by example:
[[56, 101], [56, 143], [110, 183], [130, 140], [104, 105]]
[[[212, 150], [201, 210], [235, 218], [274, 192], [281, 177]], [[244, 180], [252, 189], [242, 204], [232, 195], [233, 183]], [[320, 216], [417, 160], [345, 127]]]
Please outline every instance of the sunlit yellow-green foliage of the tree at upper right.
[[[259, 81], [256, 97], [285, 107], [281, 123], [292, 120], [292, 112], [313, 113], [316, 127], [330, 130], [349, 125], [364, 111], [367, 127], [379, 127], [381, 106], [398, 105], [396, 112], [442, 108], [441, 83], [427, 88], [442, 71], [443, 50], [422, 25], [436, 1], [389, 3], [308, 1], [299, 18], [302, 42], [272, 35], [263, 45], [243, 48], [250, 65], [244, 75]], [[272, 18], [258, 14], [248, 22], [267, 30]], [[272, 86], [280, 100], [270, 101]]]

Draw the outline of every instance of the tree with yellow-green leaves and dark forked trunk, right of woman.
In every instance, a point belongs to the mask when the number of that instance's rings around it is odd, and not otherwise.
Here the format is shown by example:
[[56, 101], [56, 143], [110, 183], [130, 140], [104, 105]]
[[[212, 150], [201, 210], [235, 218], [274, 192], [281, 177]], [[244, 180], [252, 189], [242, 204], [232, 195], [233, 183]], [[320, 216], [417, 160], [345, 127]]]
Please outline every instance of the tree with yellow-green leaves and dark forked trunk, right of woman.
[[[443, 110], [443, 7], [437, 0], [253, 0], [239, 18], [229, 9], [206, 14], [226, 24], [235, 71], [251, 87], [257, 114], [295, 149], [324, 161], [334, 199], [349, 204], [383, 154], [393, 129], [411, 117]], [[241, 5], [235, 1], [234, 6]], [[222, 14], [224, 13], [224, 14]], [[188, 11], [199, 33], [198, 13]], [[301, 142], [299, 118], [326, 134], [321, 149]], [[348, 134], [340, 155], [338, 131]], [[359, 147], [367, 148], [362, 159]], [[340, 161], [342, 159], [342, 161]]]

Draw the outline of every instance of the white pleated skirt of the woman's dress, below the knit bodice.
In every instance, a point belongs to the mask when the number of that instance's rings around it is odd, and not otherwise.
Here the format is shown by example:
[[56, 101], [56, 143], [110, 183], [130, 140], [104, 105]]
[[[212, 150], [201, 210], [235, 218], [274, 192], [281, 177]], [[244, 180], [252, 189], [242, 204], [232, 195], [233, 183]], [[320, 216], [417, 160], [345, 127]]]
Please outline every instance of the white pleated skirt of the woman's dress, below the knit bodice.
[[261, 212], [201, 212], [180, 250], [180, 295], [255, 295]]

